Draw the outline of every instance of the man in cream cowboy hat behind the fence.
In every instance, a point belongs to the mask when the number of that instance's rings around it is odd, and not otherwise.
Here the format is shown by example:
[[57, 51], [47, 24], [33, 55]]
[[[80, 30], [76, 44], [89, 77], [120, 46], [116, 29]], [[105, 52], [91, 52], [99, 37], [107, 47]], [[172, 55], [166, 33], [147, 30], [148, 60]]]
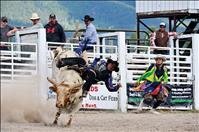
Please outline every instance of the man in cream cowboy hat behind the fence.
[[32, 17], [30, 18], [32, 21], [32, 26], [28, 27], [27, 29], [39, 29], [39, 28], [44, 28], [44, 26], [40, 23], [40, 17], [38, 16], [37, 13], [32, 13]]

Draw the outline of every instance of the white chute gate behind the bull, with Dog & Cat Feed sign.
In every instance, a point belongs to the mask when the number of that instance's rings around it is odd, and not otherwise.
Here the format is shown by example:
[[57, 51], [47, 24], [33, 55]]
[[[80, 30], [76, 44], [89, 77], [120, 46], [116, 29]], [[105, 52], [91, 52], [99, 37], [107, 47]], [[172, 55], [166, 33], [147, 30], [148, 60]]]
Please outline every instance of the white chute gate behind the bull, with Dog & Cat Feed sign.
[[[93, 45], [92, 51], [87, 51], [89, 63], [91, 64], [95, 57], [101, 59], [111, 58], [118, 59], [118, 33], [110, 33], [99, 35], [99, 42]], [[48, 76], [51, 77], [52, 70], [52, 50], [55, 48], [50, 46], [52, 43], [47, 42], [48, 45]], [[53, 45], [63, 45], [65, 50], [75, 51], [79, 44], [74, 43], [53, 43]], [[113, 73], [113, 83], [118, 81], [118, 74]], [[49, 84], [50, 85], [50, 84]], [[51, 90], [48, 90], [48, 99], [54, 99], [56, 96]], [[83, 99], [82, 108], [86, 109], [118, 109], [118, 92], [109, 92], [104, 82], [99, 82], [92, 85], [89, 94]]]

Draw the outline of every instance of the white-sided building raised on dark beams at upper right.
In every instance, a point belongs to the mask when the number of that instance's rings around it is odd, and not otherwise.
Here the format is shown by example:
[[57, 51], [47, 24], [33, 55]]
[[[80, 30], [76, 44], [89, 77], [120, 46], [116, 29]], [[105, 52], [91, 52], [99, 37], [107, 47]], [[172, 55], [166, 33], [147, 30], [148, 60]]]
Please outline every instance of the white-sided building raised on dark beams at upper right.
[[[196, 28], [199, 23], [198, 0], [170, 0], [170, 1], [136, 1], [137, 36], [140, 38], [140, 24], [153, 32], [149, 25], [143, 22], [149, 18], [168, 19], [169, 31], [177, 31], [179, 26], [184, 27], [183, 34], [199, 33]], [[185, 21], [188, 21], [188, 23]], [[138, 40], [138, 45], [139, 45]]]

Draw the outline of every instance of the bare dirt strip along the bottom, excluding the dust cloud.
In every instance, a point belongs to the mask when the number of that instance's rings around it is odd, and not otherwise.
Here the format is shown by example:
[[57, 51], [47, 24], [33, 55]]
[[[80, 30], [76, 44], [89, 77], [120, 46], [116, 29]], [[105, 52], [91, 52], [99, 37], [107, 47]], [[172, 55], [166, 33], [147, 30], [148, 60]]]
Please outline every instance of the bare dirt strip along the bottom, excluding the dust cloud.
[[[192, 112], [99, 112], [80, 111], [71, 127], [46, 123], [2, 122], [1, 132], [198, 132], [199, 113]], [[61, 118], [66, 117], [62, 115]]]

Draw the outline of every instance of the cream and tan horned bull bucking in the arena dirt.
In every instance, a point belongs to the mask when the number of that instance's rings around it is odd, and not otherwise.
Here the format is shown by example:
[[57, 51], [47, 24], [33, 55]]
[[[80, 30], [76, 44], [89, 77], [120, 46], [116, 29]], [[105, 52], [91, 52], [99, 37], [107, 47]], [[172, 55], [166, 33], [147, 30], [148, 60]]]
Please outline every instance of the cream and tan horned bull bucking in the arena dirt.
[[57, 94], [56, 107], [58, 110], [53, 124], [58, 123], [61, 113], [68, 113], [70, 118], [66, 126], [70, 126], [74, 113], [79, 110], [82, 103], [83, 80], [76, 70], [69, 69], [68, 66], [57, 67], [62, 58], [76, 57], [74, 52], [57, 48], [54, 53], [52, 79], [47, 78], [52, 84], [49, 89]]

